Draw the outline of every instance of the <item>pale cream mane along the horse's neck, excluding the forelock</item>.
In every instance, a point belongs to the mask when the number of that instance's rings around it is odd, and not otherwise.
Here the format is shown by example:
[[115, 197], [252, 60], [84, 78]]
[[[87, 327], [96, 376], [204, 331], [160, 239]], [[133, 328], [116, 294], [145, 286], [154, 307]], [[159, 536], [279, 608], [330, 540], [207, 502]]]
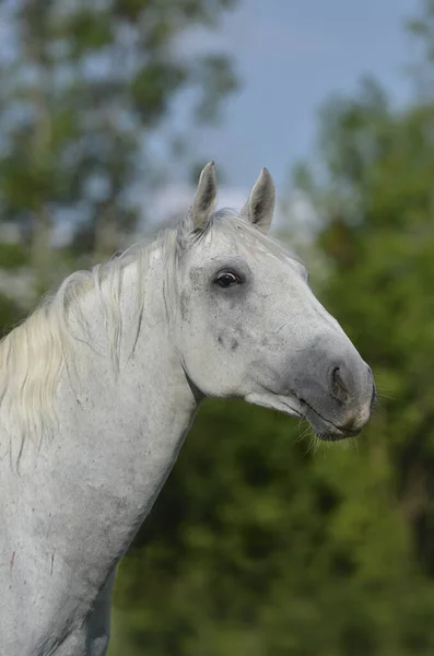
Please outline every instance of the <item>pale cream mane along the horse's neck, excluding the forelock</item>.
[[[52, 401], [66, 363], [73, 361], [80, 336], [89, 332], [82, 314], [82, 298], [92, 290], [105, 315], [109, 360], [119, 366], [122, 338], [120, 293], [126, 267], [137, 267], [138, 329], [144, 303], [143, 281], [155, 248], [168, 254], [175, 231], [166, 230], [156, 239], [132, 246], [91, 271], [75, 271], [47, 295], [39, 306], [0, 341], [0, 446], [4, 436], [20, 443], [32, 434], [36, 440], [51, 435], [56, 425]], [[74, 326], [74, 329], [71, 329]], [[0, 456], [1, 456], [0, 452]]]

